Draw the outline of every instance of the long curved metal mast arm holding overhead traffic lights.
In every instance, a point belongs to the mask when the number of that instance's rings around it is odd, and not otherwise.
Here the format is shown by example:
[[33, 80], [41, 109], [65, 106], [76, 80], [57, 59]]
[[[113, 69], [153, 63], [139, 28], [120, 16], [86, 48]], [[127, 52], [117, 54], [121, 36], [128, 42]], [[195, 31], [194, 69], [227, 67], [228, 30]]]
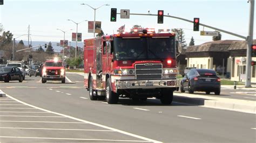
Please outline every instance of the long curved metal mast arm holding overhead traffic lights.
[[[120, 13], [117, 13], [117, 14], [120, 15]], [[153, 15], [153, 14], [141, 14], [141, 13], [130, 13], [130, 15], [158, 16], [158, 15]], [[164, 17], [176, 18], [176, 19], [183, 20], [183, 21], [185, 21], [185, 22], [194, 23], [192, 20], [188, 20], [188, 19], [185, 19], [185, 18], [180, 18], [180, 17], [175, 17], [175, 16], [168, 16], [168, 15], [164, 15]], [[211, 28], [211, 29], [214, 29], [214, 30], [223, 32], [223, 33], [227, 33], [227, 34], [233, 35], [233, 36], [235, 36], [235, 37], [239, 37], [239, 38], [242, 38], [242, 39], [245, 39], [245, 40], [246, 40], [246, 37], [244, 37], [243, 35], [235, 34], [235, 33], [232, 33], [232, 32], [225, 31], [225, 30], [221, 30], [220, 28], [215, 28], [215, 27], [208, 26], [208, 25], [201, 24], [201, 23], [199, 23], [199, 25], [205, 26], [205, 27], [208, 27], [208, 28]]]

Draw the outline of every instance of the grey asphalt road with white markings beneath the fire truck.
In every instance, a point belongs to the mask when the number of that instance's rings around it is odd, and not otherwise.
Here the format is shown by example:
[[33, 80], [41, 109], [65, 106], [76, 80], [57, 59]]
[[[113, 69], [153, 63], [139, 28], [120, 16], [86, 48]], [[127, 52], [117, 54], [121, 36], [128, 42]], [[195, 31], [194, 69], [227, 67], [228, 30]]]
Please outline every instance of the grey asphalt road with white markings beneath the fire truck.
[[[28, 77], [24, 83], [1, 82], [0, 89], [14, 99], [0, 98], [0, 141], [256, 141], [253, 114], [178, 103], [166, 106], [157, 99], [133, 103], [120, 98], [110, 105], [90, 101], [83, 76], [67, 77], [70, 82], [65, 84], [42, 84], [39, 77]], [[221, 97], [252, 100], [224, 91]]]

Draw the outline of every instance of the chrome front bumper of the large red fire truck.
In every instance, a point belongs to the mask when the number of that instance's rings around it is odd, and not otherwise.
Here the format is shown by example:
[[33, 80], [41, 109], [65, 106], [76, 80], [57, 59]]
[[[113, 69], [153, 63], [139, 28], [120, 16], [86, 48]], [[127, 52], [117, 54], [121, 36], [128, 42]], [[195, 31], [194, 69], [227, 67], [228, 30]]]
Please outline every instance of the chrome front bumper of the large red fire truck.
[[154, 88], [178, 88], [178, 79], [169, 80], [141, 80], [141, 81], [114, 81], [116, 89], [154, 89]]

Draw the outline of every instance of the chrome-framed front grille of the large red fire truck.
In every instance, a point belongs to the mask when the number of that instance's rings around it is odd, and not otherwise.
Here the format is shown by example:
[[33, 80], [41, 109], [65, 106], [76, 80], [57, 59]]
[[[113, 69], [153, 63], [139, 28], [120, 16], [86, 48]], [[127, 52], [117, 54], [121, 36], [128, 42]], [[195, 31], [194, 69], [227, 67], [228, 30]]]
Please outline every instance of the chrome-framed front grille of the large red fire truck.
[[159, 63], [145, 63], [135, 65], [135, 74], [137, 80], [161, 79], [162, 73], [162, 65]]

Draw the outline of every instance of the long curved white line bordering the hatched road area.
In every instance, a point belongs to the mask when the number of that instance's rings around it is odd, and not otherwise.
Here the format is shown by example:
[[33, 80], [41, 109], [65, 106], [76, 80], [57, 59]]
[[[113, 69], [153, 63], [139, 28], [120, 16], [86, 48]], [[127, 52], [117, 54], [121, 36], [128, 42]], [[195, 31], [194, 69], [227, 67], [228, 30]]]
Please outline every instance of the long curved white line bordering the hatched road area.
[[[87, 124], [95, 125], [95, 126], [98, 126], [98, 127], [106, 128], [106, 129], [108, 129], [108, 130], [116, 131], [116, 132], [119, 132], [119, 133], [122, 133], [122, 134], [130, 135], [131, 137], [135, 137], [135, 138], [138, 138], [138, 139], [143, 139], [143, 140], [145, 140], [144, 142], [146, 142], [146, 141], [148, 141], [148, 142], [161, 142], [161, 141], [153, 140], [153, 139], [150, 139], [150, 138], [142, 137], [142, 136], [137, 135], [137, 134], [133, 134], [133, 133], [125, 132], [125, 131], [122, 131], [122, 130], [118, 130], [118, 129], [113, 128], [113, 127], [109, 127], [109, 126], [105, 126], [105, 125], [93, 123], [93, 122], [91, 122], [91, 121], [87, 121], [87, 120], [83, 120], [83, 119], [78, 119], [78, 118], [75, 118], [75, 117], [72, 117], [72, 116], [64, 115], [64, 114], [62, 114], [62, 113], [57, 113], [57, 112], [52, 112], [52, 111], [50, 111], [50, 110], [42, 109], [42, 108], [39, 108], [39, 107], [37, 107], [37, 106], [30, 105], [30, 104], [28, 104], [28, 103], [19, 101], [18, 99], [14, 98], [14, 97], [11, 97], [11, 96], [8, 95], [8, 94], [6, 94], [6, 96], [9, 97], [9, 98], [11, 98], [11, 99], [14, 99], [15, 101], [17, 101], [17, 102], [19, 102], [19, 103], [22, 103], [22, 104], [31, 106], [32, 108], [36, 108], [36, 109], [38, 109], [38, 110], [50, 112], [50, 113], [53, 113], [53, 114], [56, 114], [56, 115], [59, 115], [59, 116], [64, 116], [64, 117], [67, 117], [67, 118], [70, 118], [70, 119], [73, 119], [73, 120], [82, 121], [83, 123], [87, 123]], [[2, 137], [3, 137], [3, 136], [2, 136]], [[1, 137], [0, 137], [0, 138], [1, 138]]]

